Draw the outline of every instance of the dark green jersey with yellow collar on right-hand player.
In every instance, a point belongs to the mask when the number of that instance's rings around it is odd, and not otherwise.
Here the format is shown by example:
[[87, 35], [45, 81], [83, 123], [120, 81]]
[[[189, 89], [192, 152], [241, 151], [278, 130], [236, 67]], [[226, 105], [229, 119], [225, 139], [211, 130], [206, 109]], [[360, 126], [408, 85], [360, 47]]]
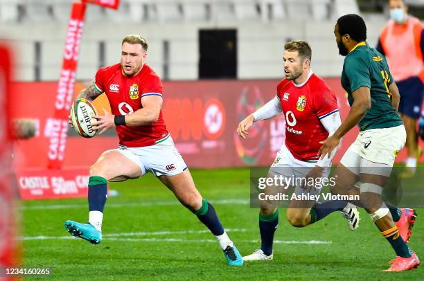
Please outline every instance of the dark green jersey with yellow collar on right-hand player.
[[360, 87], [368, 87], [371, 93], [371, 109], [358, 124], [360, 131], [403, 124], [391, 105], [389, 85], [392, 82], [394, 79], [386, 58], [365, 42], [357, 44], [344, 58], [342, 87], [347, 93], [349, 105], [353, 104], [352, 93]]

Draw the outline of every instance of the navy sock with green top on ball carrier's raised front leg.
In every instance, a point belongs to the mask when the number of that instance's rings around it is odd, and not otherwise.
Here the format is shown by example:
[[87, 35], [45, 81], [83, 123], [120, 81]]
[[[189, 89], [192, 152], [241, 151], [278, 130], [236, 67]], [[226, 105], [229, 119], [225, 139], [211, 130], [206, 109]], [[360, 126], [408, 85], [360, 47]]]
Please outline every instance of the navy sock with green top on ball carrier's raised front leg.
[[107, 199], [107, 179], [102, 176], [90, 176], [88, 186], [89, 210], [103, 212]]

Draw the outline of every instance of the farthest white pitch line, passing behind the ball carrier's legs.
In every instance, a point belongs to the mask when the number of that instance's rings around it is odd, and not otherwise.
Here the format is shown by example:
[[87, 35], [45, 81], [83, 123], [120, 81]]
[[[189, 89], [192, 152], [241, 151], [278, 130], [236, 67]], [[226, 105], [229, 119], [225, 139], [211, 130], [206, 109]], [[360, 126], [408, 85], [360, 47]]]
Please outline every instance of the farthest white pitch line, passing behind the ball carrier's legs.
[[[247, 205], [249, 200], [245, 199], [222, 199], [222, 200], [210, 200], [212, 204], [217, 205]], [[107, 203], [106, 208], [120, 208], [120, 207], [144, 207], [144, 206], [176, 206], [181, 205], [177, 199], [175, 201], [156, 201], [156, 202], [128, 202], [128, 203]], [[87, 208], [87, 203], [81, 204], [62, 204], [62, 205], [44, 205], [44, 206], [21, 206], [22, 210], [47, 210], [47, 209], [74, 209], [74, 208]]]

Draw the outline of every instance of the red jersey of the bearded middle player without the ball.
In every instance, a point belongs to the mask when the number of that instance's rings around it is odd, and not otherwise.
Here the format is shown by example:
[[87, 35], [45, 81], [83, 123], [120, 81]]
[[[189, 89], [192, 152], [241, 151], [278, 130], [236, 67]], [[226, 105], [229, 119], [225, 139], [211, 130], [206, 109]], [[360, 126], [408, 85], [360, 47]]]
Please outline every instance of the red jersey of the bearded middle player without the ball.
[[321, 147], [319, 142], [328, 138], [320, 119], [339, 111], [335, 93], [322, 78], [312, 73], [301, 87], [291, 80], [281, 80], [277, 98], [285, 116], [285, 146], [294, 158], [316, 162]]

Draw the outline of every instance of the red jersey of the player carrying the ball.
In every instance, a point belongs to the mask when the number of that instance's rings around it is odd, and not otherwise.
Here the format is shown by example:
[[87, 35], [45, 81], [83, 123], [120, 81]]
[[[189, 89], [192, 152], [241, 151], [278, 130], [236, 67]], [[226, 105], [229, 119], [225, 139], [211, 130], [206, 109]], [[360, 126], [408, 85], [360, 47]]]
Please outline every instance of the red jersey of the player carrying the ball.
[[[106, 93], [112, 114], [126, 115], [143, 108], [141, 98], [145, 96], [162, 97], [162, 83], [159, 76], [147, 64], [132, 77], [123, 75], [121, 64], [99, 69], [94, 87]], [[168, 137], [162, 111], [156, 122], [143, 126], [116, 126], [119, 144], [127, 147], [154, 145]]]

